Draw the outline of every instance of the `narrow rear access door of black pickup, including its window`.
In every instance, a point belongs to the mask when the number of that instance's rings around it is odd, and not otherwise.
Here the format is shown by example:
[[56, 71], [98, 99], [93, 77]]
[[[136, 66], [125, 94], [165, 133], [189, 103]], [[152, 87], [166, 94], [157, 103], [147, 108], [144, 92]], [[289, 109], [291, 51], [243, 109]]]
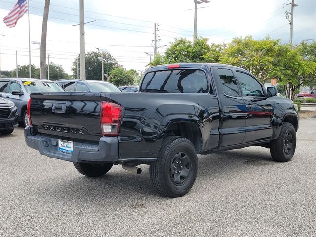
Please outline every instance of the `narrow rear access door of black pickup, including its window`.
[[245, 137], [246, 107], [237, 80], [230, 68], [212, 67], [211, 70], [221, 110], [219, 146], [240, 144]]

